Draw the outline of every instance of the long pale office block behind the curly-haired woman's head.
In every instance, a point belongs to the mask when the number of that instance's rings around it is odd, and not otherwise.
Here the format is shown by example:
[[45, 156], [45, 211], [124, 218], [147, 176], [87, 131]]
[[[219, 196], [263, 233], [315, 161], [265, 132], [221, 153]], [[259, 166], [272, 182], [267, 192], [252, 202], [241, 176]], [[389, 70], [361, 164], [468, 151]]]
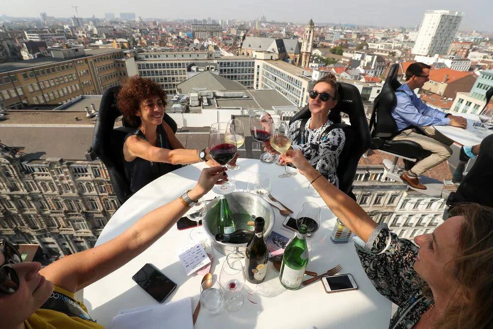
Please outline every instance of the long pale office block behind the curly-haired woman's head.
[[254, 59], [249, 56], [214, 57], [208, 51], [127, 51], [127, 74], [159, 83], [167, 94], [176, 94], [176, 85], [188, 79], [192, 66], [217, 67], [219, 75], [253, 88]]

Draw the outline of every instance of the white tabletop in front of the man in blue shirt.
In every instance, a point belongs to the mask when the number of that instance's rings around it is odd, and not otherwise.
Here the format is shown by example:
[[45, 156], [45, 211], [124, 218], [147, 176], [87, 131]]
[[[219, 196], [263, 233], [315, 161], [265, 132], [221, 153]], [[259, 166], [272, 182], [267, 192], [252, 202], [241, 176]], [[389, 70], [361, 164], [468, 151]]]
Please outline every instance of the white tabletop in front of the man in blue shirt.
[[458, 115], [467, 119], [466, 129], [450, 125], [434, 125], [433, 128], [463, 146], [480, 144], [486, 136], [493, 133], [491, 129], [485, 131], [484, 128], [478, 128], [474, 125], [474, 123], [481, 123], [478, 114], [459, 113]]

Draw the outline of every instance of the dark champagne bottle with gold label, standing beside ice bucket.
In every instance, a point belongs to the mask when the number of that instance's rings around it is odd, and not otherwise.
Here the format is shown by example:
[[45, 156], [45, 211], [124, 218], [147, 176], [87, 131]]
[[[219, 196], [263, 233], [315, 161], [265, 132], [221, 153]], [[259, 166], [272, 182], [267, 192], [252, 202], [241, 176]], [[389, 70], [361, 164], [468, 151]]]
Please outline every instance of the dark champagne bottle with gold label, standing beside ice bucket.
[[246, 245], [245, 266], [246, 280], [250, 283], [261, 283], [267, 273], [267, 260], [269, 258], [269, 249], [263, 239], [263, 227], [265, 219], [255, 218], [255, 235]]

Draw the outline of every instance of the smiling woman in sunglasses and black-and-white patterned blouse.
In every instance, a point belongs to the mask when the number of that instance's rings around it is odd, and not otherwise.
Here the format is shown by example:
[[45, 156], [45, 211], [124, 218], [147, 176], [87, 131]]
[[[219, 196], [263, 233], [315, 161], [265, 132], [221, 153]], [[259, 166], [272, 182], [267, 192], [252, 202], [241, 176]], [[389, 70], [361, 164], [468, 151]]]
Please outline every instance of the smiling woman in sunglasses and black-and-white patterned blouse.
[[[338, 99], [335, 77], [329, 74], [318, 80], [313, 90], [309, 92], [309, 96], [308, 106], [311, 117], [308, 121], [296, 120], [289, 126], [293, 140], [291, 149], [301, 150], [310, 164], [338, 187], [336, 169], [339, 155], [344, 147], [345, 136], [340, 128], [329, 130], [333, 124], [329, 120], [329, 112], [337, 105]], [[264, 149], [270, 154], [279, 154], [269, 141], [264, 142]]]

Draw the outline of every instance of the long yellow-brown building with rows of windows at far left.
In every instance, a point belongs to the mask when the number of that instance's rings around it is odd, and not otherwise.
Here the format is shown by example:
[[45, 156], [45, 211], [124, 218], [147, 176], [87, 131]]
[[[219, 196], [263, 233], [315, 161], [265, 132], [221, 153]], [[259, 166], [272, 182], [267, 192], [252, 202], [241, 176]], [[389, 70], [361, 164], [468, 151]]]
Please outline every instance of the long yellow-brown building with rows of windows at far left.
[[55, 47], [53, 57], [0, 64], [0, 102], [7, 109], [59, 105], [81, 95], [101, 95], [127, 73], [121, 49]]

